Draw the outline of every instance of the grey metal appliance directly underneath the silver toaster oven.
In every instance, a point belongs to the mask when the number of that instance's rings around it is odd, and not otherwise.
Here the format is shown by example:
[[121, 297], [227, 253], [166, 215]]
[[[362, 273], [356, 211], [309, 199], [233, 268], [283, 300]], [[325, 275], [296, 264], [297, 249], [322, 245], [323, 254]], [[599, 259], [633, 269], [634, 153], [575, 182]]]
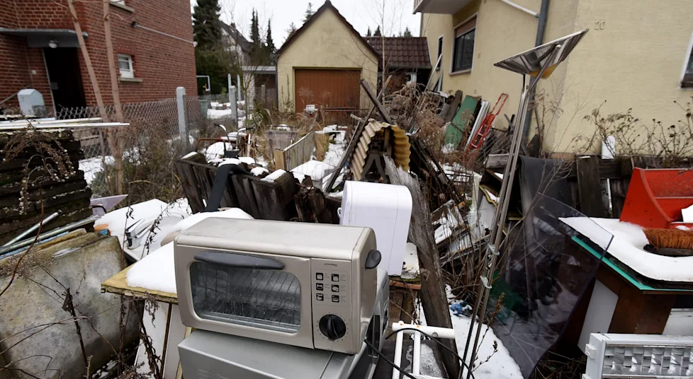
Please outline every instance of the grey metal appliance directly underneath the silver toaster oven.
[[[368, 324], [366, 341], [382, 349], [388, 328], [390, 278], [383, 269], [377, 272], [373, 315], [370, 323], [363, 322]], [[195, 330], [178, 349], [184, 378], [371, 379], [378, 364], [378, 353], [363, 341], [358, 353], [344, 354]]]

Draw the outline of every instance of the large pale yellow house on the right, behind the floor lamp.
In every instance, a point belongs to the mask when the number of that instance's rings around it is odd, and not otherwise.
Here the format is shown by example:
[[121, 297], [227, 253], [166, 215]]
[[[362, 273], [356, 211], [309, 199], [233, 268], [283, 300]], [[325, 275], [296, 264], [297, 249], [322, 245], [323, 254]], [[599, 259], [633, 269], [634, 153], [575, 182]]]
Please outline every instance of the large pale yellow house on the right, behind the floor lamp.
[[[491, 105], [508, 93], [507, 115], [517, 112], [522, 76], [493, 64], [590, 29], [551, 78], [539, 83], [544, 98], [537, 108], [546, 110], [540, 119], [548, 151], [599, 152], [580, 136], [595, 134], [585, 116], [600, 106], [602, 115], [632, 109], [645, 124], [657, 119], [670, 125], [684, 117], [680, 105], [692, 101], [691, 0], [414, 0], [414, 13], [421, 13], [432, 64], [441, 55], [432, 74], [434, 80], [442, 76], [441, 90], [482, 96]], [[496, 120], [498, 127], [507, 124], [505, 117]], [[536, 125], [534, 115], [529, 136]]]

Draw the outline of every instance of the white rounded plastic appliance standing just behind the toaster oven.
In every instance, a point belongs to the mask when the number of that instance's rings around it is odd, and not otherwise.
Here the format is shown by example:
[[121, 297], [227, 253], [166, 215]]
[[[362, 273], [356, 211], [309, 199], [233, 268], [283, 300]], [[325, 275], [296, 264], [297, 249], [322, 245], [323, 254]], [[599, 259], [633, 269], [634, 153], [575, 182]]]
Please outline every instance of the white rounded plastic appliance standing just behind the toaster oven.
[[412, 194], [402, 185], [347, 181], [339, 214], [341, 225], [365, 226], [376, 232], [381, 269], [402, 274], [412, 217]]

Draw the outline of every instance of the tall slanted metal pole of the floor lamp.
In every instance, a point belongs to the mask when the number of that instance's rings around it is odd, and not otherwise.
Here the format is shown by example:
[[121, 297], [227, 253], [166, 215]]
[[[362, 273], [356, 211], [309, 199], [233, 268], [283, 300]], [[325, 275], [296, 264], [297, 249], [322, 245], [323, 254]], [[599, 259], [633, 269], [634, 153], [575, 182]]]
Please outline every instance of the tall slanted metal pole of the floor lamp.
[[503, 185], [501, 187], [498, 197], [500, 199], [500, 204], [498, 204], [495, 214], [494, 223], [491, 231], [490, 242], [486, 247], [486, 255], [484, 261], [488, 260], [489, 263], [486, 266], [486, 275], [481, 276], [481, 286], [479, 287], [479, 292], [477, 294], [476, 302], [474, 305], [474, 310], [471, 313], [471, 323], [469, 325], [469, 332], [467, 334], [467, 344], [465, 346], [465, 351], [463, 354], [463, 361], [466, 362], [467, 351], [471, 342], [471, 334], [474, 331], [475, 319], [479, 317], [479, 327], [476, 330], [474, 342], [472, 344], [472, 352], [469, 358], [469, 369], [467, 370], [467, 379], [471, 378], [471, 370], [474, 365], [474, 359], [477, 353], [477, 344], [479, 342], [479, 337], [481, 334], [481, 325], [483, 325], [483, 317], [486, 314], [486, 307], [488, 305], [488, 297], [490, 295], [490, 289], [493, 282], [493, 274], [495, 272], [495, 267], [497, 263], [497, 257], [500, 255], [500, 243], [503, 235], [503, 226], [505, 226], [505, 219], [507, 218], [508, 206], [510, 203], [510, 194], [512, 192], [512, 182], [514, 180], [515, 169], [517, 168], [517, 156], [519, 155], [519, 148], [522, 144], [522, 125], [524, 124], [524, 118], [526, 117], [527, 109], [529, 108], [529, 97], [527, 96], [529, 91], [536, 87], [536, 83], [539, 82], [539, 78], [548, 69], [548, 66], [556, 58], [556, 54], [560, 51], [560, 45], [553, 47], [551, 55], [546, 59], [545, 63], [541, 67], [539, 74], [536, 78], [530, 78], [529, 85], [522, 89], [522, 95], [520, 97], [519, 107], [517, 109], [517, 118], [515, 122], [515, 129], [513, 131], [512, 146], [508, 154], [508, 164], [505, 165], [505, 170], [503, 174]]

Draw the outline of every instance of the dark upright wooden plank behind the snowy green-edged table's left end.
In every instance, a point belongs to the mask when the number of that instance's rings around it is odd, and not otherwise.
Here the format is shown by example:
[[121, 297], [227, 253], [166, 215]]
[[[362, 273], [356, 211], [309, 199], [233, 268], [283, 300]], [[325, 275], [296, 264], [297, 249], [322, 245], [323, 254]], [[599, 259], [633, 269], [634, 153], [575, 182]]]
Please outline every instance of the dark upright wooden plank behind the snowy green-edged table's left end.
[[580, 212], [590, 217], [607, 217], [607, 211], [602, 204], [598, 158], [579, 158], [577, 168]]

